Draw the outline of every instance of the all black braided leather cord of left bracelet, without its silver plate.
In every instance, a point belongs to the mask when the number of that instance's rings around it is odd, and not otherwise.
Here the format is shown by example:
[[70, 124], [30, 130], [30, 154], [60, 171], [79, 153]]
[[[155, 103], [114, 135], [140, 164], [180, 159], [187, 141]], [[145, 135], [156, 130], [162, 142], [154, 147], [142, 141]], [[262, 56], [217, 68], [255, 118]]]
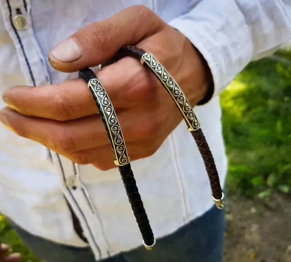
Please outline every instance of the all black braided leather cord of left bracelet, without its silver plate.
[[[85, 68], [79, 72], [79, 77], [83, 78], [87, 83], [94, 79], [97, 78], [94, 74], [94, 72], [88, 68]], [[90, 88], [90, 91], [92, 92], [92, 95], [94, 96], [97, 108], [99, 110], [99, 114], [102, 118], [102, 122], [104, 124], [104, 127], [106, 129], [106, 133], [108, 136], [108, 139], [110, 141], [111, 147], [113, 149], [113, 141], [110, 137], [110, 131], [108, 129], [105, 117], [104, 117], [104, 112], [102, 110], [102, 107], [100, 106], [98, 99], [96, 97], [96, 93], [92, 91]], [[114, 153], [114, 150], [113, 150]], [[124, 166], [118, 166], [118, 170], [120, 172], [123, 185], [126, 189], [126, 193], [129, 198], [129, 202], [131, 204], [131, 208], [133, 211], [133, 214], [136, 218], [136, 222], [138, 224], [138, 227], [141, 231], [141, 234], [143, 236], [144, 243], [147, 246], [152, 246], [155, 242], [153, 231], [150, 227], [147, 215], [146, 215], [146, 210], [144, 208], [143, 201], [141, 200], [141, 196], [138, 191], [138, 187], [136, 185], [135, 178], [133, 176], [133, 172], [131, 170], [130, 163], [124, 165]]]

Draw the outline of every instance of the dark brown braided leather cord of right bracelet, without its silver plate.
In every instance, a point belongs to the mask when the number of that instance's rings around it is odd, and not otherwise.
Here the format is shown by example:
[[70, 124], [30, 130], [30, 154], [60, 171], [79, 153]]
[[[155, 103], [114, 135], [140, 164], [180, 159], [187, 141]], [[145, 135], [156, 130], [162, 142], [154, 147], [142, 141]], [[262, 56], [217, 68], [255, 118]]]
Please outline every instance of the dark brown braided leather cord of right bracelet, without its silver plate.
[[[143, 49], [138, 48], [136, 46], [124, 46], [116, 53], [116, 55], [112, 59], [110, 59], [109, 61], [107, 61], [103, 65], [101, 65], [101, 68], [103, 68], [107, 65], [110, 65], [114, 62], [117, 62], [118, 60], [120, 60], [126, 56], [130, 56], [130, 57], [136, 58], [138, 60], [141, 60], [142, 56], [145, 53], [146, 53], [146, 51], [144, 51]], [[161, 79], [159, 79], [159, 80], [161, 81]], [[185, 117], [184, 117], [184, 120], [189, 127], [189, 124], [187, 123]], [[204, 162], [204, 165], [205, 165], [208, 177], [209, 177], [209, 181], [210, 181], [212, 197], [215, 198], [216, 200], [220, 200], [223, 198], [223, 193], [222, 193], [222, 189], [221, 189], [220, 182], [219, 182], [219, 175], [218, 175], [218, 172], [217, 172], [217, 169], [215, 166], [215, 162], [213, 159], [213, 155], [210, 151], [209, 145], [205, 139], [205, 136], [204, 136], [201, 128], [199, 128], [198, 130], [195, 130], [195, 131], [191, 131], [191, 134], [192, 134], [192, 136], [195, 140], [195, 143], [198, 147], [198, 150], [203, 158], [203, 162]]]

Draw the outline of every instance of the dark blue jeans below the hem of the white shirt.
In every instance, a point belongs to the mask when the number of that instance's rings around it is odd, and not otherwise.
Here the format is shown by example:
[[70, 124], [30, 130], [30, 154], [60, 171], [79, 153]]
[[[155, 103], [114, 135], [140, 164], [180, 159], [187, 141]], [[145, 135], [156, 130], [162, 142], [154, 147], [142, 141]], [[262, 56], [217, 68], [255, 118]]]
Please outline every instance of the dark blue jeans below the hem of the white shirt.
[[[47, 262], [95, 262], [90, 248], [59, 245], [13, 225], [32, 252]], [[157, 240], [153, 250], [137, 247], [102, 262], [222, 262], [225, 213], [212, 207], [174, 233]]]

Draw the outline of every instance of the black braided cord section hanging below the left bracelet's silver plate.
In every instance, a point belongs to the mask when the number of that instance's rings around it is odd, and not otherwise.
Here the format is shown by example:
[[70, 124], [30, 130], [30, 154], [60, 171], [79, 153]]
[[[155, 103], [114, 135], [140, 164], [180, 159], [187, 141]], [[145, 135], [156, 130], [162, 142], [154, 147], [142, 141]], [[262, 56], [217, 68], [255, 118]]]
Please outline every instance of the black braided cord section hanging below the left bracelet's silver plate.
[[123, 185], [126, 188], [126, 193], [129, 197], [129, 202], [131, 204], [131, 208], [136, 218], [138, 227], [142, 233], [144, 242], [147, 246], [151, 246], [154, 243], [154, 235], [146, 215], [143, 201], [141, 200], [141, 196], [138, 192], [130, 164], [120, 166], [118, 169], [120, 171]]

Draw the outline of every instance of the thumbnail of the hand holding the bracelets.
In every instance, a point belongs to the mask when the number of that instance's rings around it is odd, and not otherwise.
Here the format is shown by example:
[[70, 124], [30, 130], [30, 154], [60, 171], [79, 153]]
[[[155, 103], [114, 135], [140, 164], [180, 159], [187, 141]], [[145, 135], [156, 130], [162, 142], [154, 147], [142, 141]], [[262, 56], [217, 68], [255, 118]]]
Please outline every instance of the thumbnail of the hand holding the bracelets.
[[74, 62], [81, 58], [82, 51], [72, 38], [56, 45], [51, 50], [51, 55], [63, 62]]

